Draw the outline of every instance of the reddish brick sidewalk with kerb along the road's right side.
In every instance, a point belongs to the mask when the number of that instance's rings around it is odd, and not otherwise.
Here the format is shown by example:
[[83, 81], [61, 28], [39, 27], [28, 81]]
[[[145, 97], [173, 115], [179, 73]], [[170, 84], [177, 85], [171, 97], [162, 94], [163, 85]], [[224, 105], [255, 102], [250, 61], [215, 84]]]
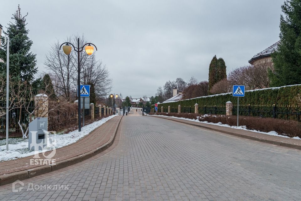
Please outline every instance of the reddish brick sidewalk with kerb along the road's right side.
[[[153, 116], [153, 117], [158, 117], [158, 116]], [[193, 122], [193, 121], [189, 121], [189, 120], [177, 119], [177, 118], [171, 118], [171, 117], [158, 117], [158, 118], [163, 118], [163, 119], [168, 119], [168, 120], [172, 120], [175, 122], [198, 126], [201, 128], [206, 128], [209, 130], [214, 130], [217, 132], [235, 135], [238, 137], [256, 140], [256, 141], [260, 141], [260, 142], [264, 142], [264, 143], [275, 144], [275, 145], [290, 147], [290, 148], [294, 148], [294, 149], [301, 149], [301, 140], [299, 140], [299, 139], [283, 138], [283, 137], [278, 137], [278, 136], [273, 136], [273, 135], [256, 133], [256, 132], [252, 132], [252, 131], [240, 130], [240, 129], [229, 128], [229, 127], [222, 127], [222, 126], [201, 123], [201, 122]]]

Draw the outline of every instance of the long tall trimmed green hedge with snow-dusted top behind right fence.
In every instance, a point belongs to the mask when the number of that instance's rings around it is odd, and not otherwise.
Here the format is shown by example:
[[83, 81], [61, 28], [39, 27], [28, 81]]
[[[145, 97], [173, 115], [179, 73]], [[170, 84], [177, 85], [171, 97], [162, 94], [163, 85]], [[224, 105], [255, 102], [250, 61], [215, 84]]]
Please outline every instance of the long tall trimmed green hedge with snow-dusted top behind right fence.
[[[245, 97], [240, 97], [240, 105], [293, 105], [298, 106], [296, 96], [301, 93], [301, 84], [290, 85], [283, 87], [250, 90], [245, 92]], [[218, 94], [202, 96], [193, 99], [179, 100], [170, 103], [158, 104], [158, 110], [161, 111], [163, 108], [177, 108], [178, 105], [181, 107], [194, 107], [194, 104], [198, 103], [199, 106], [225, 106], [227, 101], [231, 101], [233, 104], [237, 103], [237, 98], [232, 96], [232, 93]], [[154, 108], [154, 105], [151, 106]]]

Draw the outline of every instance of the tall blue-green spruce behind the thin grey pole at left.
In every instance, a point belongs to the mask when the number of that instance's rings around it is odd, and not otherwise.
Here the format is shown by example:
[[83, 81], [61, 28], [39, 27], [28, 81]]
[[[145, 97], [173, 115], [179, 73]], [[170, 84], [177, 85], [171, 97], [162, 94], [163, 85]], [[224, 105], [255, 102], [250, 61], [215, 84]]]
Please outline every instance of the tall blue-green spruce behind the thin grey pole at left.
[[[36, 54], [30, 52], [33, 42], [29, 39], [29, 30], [26, 29], [25, 16], [21, 15], [21, 9], [18, 6], [18, 10], [13, 14], [13, 22], [8, 24], [7, 31], [3, 31], [8, 35], [9, 43], [9, 74], [12, 78], [20, 78], [22, 81], [32, 83], [34, 80], [34, 74], [37, 73], [36, 67]], [[4, 44], [4, 37], [2, 39], [2, 45], [0, 48], [0, 58], [6, 62], [6, 44]], [[6, 72], [6, 63], [1, 63], [3, 73]]]

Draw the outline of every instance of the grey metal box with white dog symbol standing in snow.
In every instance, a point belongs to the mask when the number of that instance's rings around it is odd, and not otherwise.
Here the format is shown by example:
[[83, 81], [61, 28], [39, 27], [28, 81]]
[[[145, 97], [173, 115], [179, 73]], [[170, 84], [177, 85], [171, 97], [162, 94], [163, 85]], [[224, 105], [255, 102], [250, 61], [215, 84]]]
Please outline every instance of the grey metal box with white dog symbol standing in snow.
[[47, 149], [48, 134], [43, 130], [48, 130], [48, 118], [38, 117], [29, 123], [28, 129], [28, 149], [39, 151]]

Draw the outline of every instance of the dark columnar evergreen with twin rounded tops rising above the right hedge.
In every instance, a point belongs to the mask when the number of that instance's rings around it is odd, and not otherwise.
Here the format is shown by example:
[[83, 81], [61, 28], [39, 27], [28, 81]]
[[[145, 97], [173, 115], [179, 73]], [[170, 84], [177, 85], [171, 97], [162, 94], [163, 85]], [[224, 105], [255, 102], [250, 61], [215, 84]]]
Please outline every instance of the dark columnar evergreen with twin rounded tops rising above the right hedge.
[[217, 59], [216, 55], [214, 55], [209, 65], [209, 91], [214, 84], [224, 78], [227, 78], [226, 64], [224, 62], [224, 59]]

